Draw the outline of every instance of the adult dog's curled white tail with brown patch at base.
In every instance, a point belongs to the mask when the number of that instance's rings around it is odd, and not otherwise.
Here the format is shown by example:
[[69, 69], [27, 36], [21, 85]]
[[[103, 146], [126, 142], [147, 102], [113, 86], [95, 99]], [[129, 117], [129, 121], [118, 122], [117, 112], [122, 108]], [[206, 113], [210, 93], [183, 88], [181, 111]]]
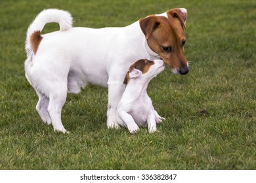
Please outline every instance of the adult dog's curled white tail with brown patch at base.
[[56, 22], [60, 25], [60, 31], [72, 28], [72, 16], [69, 12], [58, 9], [47, 9], [40, 12], [30, 27], [26, 38], [26, 52], [28, 56], [35, 54], [41, 42], [41, 31], [47, 23]]

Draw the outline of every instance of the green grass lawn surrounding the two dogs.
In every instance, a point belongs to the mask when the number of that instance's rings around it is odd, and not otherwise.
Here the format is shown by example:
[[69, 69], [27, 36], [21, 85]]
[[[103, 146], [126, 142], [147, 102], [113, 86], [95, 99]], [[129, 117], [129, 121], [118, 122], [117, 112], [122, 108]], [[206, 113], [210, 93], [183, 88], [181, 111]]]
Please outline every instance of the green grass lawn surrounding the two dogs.
[[[43, 8], [69, 10], [74, 26], [124, 26], [168, 8], [188, 10], [186, 76], [165, 69], [148, 86], [165, 122], [158, 132], [107, 129], [107, 90], [68, 95], [54, 133], [24, 76], [26, 30]], [[253, 0], [0, 1], [0, 169], [256, 169]], [[58, 29], [47, 25], [45, 32]]]

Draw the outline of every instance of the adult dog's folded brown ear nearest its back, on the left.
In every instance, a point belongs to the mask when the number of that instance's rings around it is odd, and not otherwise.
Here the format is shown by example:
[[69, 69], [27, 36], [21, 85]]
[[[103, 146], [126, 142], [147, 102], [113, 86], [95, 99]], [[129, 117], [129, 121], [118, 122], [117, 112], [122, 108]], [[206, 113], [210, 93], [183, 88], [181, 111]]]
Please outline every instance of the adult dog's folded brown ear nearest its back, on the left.
[[141, 18], [139, 23], [140, 29], [144, 33], [146, 39], [148, 39], [151, 33], [154, 32], [160, 25], [160, 22], [158, 22], [156, 16], [147, 16], [146, 18]]

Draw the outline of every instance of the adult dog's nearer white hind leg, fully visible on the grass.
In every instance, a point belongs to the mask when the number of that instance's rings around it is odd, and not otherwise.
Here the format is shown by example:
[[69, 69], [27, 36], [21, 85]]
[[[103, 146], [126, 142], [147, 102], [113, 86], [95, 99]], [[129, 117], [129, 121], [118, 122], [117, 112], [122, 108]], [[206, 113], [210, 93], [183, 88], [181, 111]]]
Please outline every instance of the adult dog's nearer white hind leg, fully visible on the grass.
[[[58, 88], [56, 90], [56, 88]], [[49, 105], [48, 112], [51, 117], [54, 131], [61, 131], [62, 133], [67, 133], [66, 129], [61, 122], [61, 111], [62, 107], [66, 101], [67, 97], [67, 86], [58, 84], [58, 87], [55, 86], [55, 90], [49, 94]]]

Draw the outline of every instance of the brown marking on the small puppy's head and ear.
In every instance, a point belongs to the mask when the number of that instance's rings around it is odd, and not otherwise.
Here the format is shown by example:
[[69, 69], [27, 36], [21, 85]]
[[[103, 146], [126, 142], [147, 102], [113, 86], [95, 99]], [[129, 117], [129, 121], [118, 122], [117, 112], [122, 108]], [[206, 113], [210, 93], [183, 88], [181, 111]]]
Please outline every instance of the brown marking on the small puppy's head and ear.
[[139, 59], [138, 61], [133, 63], [133, 65], [131, 65], [131, 67], [129, 68], [129, 71], [125, 75], [125, 80], [123, 80], [123, 84], [128, 84], [131, 77], [129, 74], [133, 72], [135, 69], [141, 71], [141, 73], [144, 74], [148, 72], [148, 69], [150, 69], [150, 65], [153, 65], [153, 64], [154, 64], [154, 61], [150, 61], [148, 59]]

